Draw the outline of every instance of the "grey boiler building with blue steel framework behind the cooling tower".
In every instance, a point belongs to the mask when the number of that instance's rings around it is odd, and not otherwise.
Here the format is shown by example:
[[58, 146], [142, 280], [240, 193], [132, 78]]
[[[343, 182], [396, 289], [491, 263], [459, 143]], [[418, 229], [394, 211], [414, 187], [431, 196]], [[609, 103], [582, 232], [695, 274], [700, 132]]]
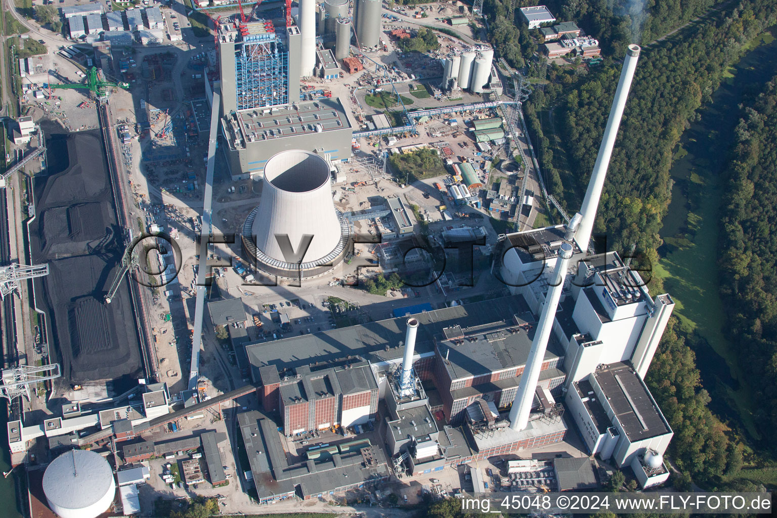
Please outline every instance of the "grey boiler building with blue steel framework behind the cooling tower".
[[352, 123], [340, 100], [300, 99], [300, 78], [315, 71], [315, 2], [300, 8], [299, 27], [263, 20], [219, 30], [221, 129], [234, 179], [261, 174], [277, 151], [350, 158]]

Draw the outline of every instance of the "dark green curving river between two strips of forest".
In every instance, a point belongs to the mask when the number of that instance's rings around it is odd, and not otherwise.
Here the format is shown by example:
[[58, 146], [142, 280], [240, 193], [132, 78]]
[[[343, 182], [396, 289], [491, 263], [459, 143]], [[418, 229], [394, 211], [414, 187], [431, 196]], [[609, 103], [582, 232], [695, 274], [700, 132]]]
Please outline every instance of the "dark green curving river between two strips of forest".
[[741, 423], [755, 440], [760, 435], [752, 419], [747, 369], [737, 363], [737, 346], [723, 332], [726, 312], [716, 262], [725, 168], [740, 118], [738, 105], [777, 73], [775, 34], [772, 27], [761, 37], [761, 44], [730, 70], [733, 77], [720, 85], [713, 102], [699, 110], [701, 119], [683, 134], [672, 163], [672, 200], [660, 231], [664, 246], [659, 250], [658, 274], [677, 303], [674, 315], [683, 329], [699, 337], [689, 343], [695, 349], [702, 383], [713, 395], [710, 407], [723, 418]]

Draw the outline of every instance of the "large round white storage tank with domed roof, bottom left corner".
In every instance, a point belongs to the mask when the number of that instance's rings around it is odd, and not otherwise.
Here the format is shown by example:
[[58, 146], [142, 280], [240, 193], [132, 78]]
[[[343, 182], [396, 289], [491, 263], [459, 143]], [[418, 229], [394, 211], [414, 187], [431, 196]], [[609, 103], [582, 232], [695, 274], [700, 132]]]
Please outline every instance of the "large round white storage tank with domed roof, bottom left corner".
[[49, 507], [61, 518], [95, 518], [116, 495], [108, 461], [89, 450], [70, 450], [54, 459], [44, 473], [43, 488]]

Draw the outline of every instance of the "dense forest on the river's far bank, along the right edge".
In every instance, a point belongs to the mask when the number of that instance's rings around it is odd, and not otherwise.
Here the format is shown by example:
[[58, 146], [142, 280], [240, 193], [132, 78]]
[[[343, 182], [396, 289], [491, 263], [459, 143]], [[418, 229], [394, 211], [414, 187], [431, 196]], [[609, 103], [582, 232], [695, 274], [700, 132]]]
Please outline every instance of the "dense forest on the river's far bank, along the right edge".
[[754, 379], [759, 429], [777, 437], [777, 76], [744, 107], [724, 192], [721, 291]]

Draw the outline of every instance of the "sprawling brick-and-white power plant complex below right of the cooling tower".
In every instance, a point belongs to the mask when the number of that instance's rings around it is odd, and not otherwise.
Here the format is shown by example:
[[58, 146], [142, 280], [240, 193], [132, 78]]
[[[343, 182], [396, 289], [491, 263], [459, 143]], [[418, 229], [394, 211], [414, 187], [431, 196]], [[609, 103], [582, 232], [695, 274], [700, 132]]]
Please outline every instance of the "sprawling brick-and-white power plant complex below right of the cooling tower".
[[[513, 295], [246, 346], [274, 429], [381, 426], [395, 471], [426, 473], [557, 443], [571, 412], [590, 454], [643, 487], [667, 480], [673, 433], [643, 378], [674, 301], [651, 297], [617, 252], [587, 256], [637, 57], [629, 47], [580, 213], [502, 240], [493, 273]], [[375, 387], [387, 414], [373, 424]]]

